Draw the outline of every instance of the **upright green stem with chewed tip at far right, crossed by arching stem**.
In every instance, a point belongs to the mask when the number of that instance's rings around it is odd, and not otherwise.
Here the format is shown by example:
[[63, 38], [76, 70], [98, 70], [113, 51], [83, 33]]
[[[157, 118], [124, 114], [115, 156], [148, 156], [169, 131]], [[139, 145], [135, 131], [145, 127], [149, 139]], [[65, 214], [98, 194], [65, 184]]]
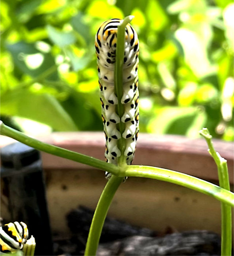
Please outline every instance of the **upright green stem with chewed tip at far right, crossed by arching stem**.
[[[227, 189], [230, 191], [230, 184], [229, 184], [229, 175], [227, 170], [227, 160], [222, 158], [218, 152], [215, 151], [213, 143], [212, 143], [212, 136], [207, 128], [203, 128], [200, 131], [200, 134], [205, 138], [208, 151], [210, 152], [211, 156], [214, 158], [214, 161], [218, 168], [218, 177], [219, 177], [219, 186], [221, 188]], [[229, 256], [231, 255], [231, 207], [221, 202], [221, 255], [222, 256]]]

